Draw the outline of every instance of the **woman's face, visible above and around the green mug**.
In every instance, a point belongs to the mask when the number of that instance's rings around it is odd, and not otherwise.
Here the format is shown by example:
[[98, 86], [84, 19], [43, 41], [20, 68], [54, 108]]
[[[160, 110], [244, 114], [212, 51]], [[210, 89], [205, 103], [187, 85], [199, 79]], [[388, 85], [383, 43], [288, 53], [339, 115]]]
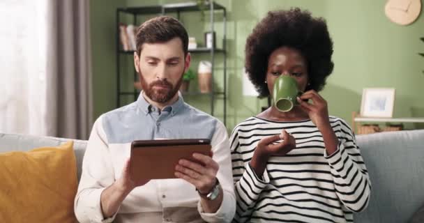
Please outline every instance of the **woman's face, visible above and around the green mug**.
[[271, 95], [275, 79], [280, 75], [293, 77], [296, 79], [298, 89], [305, 91], [309, 79], [308, 66], [301, 52], [290, 47], [280, 47], [271, 53], [266, 70], [266, 82]]

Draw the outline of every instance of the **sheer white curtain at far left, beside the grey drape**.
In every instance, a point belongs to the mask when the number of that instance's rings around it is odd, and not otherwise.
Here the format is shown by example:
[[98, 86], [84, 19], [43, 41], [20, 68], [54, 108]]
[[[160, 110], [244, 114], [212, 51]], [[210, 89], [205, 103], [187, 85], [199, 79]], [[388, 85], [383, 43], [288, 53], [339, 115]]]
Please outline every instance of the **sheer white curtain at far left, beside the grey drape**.
[[46, 0], [0, 1], [0, 132], [47, 133]]

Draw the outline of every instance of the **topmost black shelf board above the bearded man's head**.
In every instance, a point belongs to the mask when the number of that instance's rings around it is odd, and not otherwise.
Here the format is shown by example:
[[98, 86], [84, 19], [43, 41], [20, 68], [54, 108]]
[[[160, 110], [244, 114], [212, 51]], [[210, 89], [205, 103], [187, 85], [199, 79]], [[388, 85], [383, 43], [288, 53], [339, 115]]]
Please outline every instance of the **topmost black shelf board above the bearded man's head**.
[[[187, 6], [182, 6], [180, 4], [169, 4], [162, 6], [143, 6], [143, 7], [131, 7], [131, 8], [118, 8], [119, 12], [130, 13], [130, 14], [160, 14], [162, 9], [166, 13], [178, 13], [178, 12], [195, 12], [200, 11], [199, 6], [195, 4], [188, 4]], [[218, 3], [213, 3], [214, 10], [225, 10], [224, 6], [221, 6]], [[209, 4], [205, 6], [204, 10], [210, 10]]]

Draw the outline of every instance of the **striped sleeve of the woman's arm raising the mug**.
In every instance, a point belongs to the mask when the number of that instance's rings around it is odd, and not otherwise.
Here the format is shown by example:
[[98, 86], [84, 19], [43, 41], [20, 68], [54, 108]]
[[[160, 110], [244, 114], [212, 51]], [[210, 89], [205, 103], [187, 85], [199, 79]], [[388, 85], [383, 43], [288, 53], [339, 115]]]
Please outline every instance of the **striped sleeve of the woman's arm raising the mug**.
[[370, 200], [370, 177], [349, 125], [338, 119], [335, 128], [338, 149], [331, 155], [324, 153], [331, 167], [335, 193], [346, 208], [360, 212]]

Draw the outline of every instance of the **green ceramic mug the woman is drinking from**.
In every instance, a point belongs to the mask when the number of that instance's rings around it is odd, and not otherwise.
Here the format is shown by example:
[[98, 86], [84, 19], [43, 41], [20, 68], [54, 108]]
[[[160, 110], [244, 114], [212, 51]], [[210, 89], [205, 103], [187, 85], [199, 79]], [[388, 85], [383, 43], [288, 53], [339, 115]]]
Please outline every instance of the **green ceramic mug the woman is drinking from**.
[[298, 105], [296, 98], [303, 92], [298, 90], [296, 79], [287, 75], [280, 75], [275, 79], [273, 100], [274, 106], [280, 112], [289, 112], [294, 105]]

